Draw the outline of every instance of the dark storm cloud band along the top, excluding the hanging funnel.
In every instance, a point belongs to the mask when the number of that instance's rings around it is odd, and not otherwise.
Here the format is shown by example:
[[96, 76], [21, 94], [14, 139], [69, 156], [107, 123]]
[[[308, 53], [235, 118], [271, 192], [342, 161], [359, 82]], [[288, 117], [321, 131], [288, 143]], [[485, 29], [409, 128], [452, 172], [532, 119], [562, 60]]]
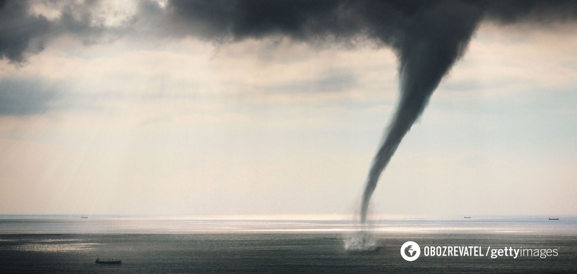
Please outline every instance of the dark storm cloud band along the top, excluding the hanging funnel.
[[[61, 16], [47, 20], [31, 13], [32, 5], [56, 8]], [[106, 27], [95, 7], [100, 1], [0, 0], [0, 58], [21, 62], [43, 44], [63, 34], [85, 43], [103, 36], [192, 36], [214, 42], [282, 35], [295, 40], [349, 43], [373, 39], [400, 47], [410, 39], [411, 25], [427, 10], [454, 6], [475, 10], [484, 20], [502, 24], [551, 23], [577, 19], [577, 1], [308, 1], [308, 0], [171, 0], [166, 7], [143, 0], [133, 20], [121, 27]]]

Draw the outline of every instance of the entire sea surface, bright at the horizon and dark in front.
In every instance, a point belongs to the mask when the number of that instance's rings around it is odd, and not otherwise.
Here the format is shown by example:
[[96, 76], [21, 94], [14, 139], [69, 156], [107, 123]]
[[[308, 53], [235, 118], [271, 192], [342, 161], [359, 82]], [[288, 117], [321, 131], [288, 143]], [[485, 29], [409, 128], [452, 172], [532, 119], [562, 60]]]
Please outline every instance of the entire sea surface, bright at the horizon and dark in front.
[[[0, 215], [0, 273], [576, 273], [577, 217]], [[362, 229], [370, 252], [344, 249]], [[400, 246], [557, 249], [558, 256], [427, 257]], [[95, 264], [119, 258], [121, 265]]]

